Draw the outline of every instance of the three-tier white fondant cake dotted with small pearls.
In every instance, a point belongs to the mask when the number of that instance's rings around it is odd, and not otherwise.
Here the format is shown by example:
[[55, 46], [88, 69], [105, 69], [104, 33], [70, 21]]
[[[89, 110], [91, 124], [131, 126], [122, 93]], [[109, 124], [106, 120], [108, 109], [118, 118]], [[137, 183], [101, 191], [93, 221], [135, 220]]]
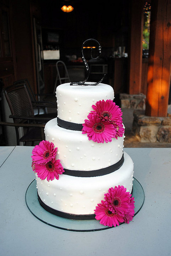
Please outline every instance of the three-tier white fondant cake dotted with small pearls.
[[[41, 180], [36, 174], [38, 196], [45, 206], [59, 212], [91, 215], [109, 188], [123, 185], [131, 193], [133, 162], [123, 153], [124, 134], [112, 138], [111, 142], [97, 143], [81, 130], [62, 128], [58, 122], [83, 124], [93, 110], [92, 105], [100, 100], [113, 100], [113, 88], [106, 84], [71, 86], [67, 83], [57, 87], [56, 97], [58, 121], [55, 118], [46, 124], [45, 135], [58, 148], [56, 159], [60, 159], [65, 172], [59, 180], [50, 181]], [[118, 163], [121, 164], [116, 168]], [[107, 168], [113, 170], [103, 172]]]

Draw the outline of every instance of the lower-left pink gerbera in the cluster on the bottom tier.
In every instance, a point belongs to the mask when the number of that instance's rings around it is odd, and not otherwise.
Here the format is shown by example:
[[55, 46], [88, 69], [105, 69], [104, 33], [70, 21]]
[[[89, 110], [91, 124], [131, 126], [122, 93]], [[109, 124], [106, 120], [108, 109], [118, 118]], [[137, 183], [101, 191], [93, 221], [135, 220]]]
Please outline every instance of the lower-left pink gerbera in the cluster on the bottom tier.
[[100, 224], [104, 226], [119, 226], [119, 223], [124, 222], [123, 216], [113, 213], [106, 206], [104, 201], [101, 201], [101, 204], [97, 204], [95, 207], [95, 219], [100, 220]]

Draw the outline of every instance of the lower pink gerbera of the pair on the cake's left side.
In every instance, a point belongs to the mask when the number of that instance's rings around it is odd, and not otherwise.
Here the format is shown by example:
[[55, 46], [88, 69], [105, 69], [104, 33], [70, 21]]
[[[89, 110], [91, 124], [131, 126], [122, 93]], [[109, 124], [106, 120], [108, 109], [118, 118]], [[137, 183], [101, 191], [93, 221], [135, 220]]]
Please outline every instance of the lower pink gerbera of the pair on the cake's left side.
[[59, 180], [59, 174], [64, 172], [64, 168], [59, 159], [52, 159], [52, 161], [44, 165], [34, 164], [33, 170], [38, 174], [38, 177], [41, 180], [45, 180], [47, 178], [48, 181], [54, 180], [54, 178]]

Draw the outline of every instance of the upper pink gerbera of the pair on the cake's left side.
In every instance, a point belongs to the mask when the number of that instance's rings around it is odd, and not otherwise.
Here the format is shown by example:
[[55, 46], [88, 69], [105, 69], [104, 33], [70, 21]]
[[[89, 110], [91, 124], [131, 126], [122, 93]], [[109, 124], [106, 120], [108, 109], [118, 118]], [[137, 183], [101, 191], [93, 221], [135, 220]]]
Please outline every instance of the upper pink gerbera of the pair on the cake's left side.
[[42, 140], [32, 151], [32, 160], [36, 164], [47, 164], [56, 157], [58, 148], [54, 148], [54, 143]]

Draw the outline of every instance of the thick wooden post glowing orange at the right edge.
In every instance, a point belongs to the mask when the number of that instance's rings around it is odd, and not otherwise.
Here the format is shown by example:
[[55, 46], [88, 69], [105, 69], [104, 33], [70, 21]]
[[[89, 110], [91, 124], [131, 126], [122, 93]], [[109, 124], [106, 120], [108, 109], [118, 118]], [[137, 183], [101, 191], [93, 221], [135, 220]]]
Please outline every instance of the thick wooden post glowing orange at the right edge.
[[147, 116], [167, 116], [171, 77], [171, 0], [152, 0]]

